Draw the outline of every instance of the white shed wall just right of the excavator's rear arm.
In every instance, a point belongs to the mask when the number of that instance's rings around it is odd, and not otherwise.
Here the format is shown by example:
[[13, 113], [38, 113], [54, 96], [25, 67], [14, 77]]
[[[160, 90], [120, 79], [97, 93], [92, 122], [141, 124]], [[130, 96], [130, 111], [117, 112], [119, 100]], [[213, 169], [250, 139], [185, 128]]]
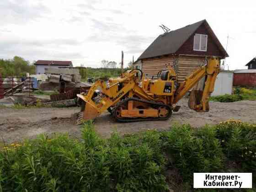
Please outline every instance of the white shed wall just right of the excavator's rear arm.
[[214, 85], [214, 91], [211, 96], [221, 96], [232, 94], [233, 73], [220, 72]]

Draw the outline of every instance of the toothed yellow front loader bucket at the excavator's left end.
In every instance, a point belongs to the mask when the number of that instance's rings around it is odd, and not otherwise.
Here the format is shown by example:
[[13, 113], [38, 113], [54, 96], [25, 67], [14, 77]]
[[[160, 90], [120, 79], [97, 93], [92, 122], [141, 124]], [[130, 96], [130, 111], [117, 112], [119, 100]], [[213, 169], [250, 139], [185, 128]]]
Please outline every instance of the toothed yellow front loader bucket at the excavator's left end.
[[77, 95], [81, 99], [81, 112], [76, 113], [76, 125], [82, 124], [86, 120], [99, 116], [99, 112], [90, 103], [86, 102], [84, 96]]

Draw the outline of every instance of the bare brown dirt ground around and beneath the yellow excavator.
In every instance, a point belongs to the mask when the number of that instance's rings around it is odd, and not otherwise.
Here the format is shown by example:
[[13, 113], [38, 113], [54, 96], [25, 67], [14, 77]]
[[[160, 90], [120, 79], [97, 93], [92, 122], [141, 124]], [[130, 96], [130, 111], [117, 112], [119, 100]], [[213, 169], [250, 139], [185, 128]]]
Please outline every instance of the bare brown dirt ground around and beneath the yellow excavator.
[[[256, 101], [238, 101], [233, 103], [210, 102], [210, 112], [195, 112], [187, 107], [187, 100], [180, 103], [179, 112], [173, 112], [166, 121], [144, 121], [134, 123], [117, 123], [108, 112], [95, 120], [96, 131], [108, 137], [113, 131], [133, 133], [147, 129], [166, 130], [174, 123], [191, 124], [200, 127], [205, 124], [217, 124], [232, 119], [256, 123]], [[12, 143], [22, 139], [35, 138], [40, 133], [66, 133], [80, 138], [80, 126], [71, 122], [71, 114], [79, 108], [0, 108], [0, 142]]]

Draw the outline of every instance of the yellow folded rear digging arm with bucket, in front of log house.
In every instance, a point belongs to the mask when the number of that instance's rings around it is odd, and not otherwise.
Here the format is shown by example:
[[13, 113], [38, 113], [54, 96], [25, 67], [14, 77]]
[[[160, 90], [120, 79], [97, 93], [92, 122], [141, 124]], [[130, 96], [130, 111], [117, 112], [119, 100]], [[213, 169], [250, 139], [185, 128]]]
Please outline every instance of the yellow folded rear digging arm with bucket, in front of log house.
[[209, 94], [214, 90], [214, 83], [219, 74], [219, 60], [216, 58], [208, 59], [208, 63], [197, 69], [194, 73], [183, 81], [176, 90], [174, 104], [177, 103], [194, 85], [204, 76], [206, 78], [204, 89], [202, 91], [192, 91], [190, 94], [189, 107], [196, 111], [208, 111]]

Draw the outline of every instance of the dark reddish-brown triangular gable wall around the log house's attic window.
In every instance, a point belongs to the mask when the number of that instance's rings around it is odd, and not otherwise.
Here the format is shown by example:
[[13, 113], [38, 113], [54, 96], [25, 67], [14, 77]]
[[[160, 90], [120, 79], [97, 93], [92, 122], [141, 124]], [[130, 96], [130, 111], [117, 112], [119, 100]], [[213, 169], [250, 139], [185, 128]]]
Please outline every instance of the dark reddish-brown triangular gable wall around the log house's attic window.
[[[195, 34], [207, 35], [207, 51], [194, 51]], [[206, 24], [203, 23], [197, 30], [187, 39], [187, 41], [178, 49], [177, 54], [199, 55], [199, 56], [216, 56], [224, 58], [225, 54], [220, 50], [213, 35], [209, 32]]]

